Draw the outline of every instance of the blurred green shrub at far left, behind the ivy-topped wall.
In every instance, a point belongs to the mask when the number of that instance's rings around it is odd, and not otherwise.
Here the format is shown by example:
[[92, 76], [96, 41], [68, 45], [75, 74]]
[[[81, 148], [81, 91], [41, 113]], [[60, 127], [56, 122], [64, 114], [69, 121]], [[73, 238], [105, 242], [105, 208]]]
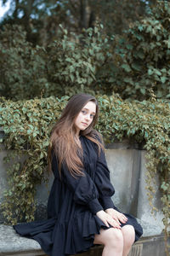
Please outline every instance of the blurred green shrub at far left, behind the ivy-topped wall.
[[44, 76], [43, 49], [26, 41], [20, 26], [6, 26], [0, 32], [0, 94], [14, 100], [41, 94], [48, 83]]

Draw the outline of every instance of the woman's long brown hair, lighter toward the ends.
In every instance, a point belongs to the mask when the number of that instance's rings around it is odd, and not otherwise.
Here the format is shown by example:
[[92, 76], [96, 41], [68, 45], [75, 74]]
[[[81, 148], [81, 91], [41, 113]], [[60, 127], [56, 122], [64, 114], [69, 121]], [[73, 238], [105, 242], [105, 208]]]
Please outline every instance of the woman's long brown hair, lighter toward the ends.
[[[75, 119], [82, 108], [88, 103], [94, 102], [96, 105], [96, 114], [92, 123], [84, 131], [80, 131], [80, 135], [87, 137], [92, 142], [98, 145], [99, 151], [104, 149], [102, 138], [99, 133], [95, 131], [94, 125], [97, 122], [99, 116], [98, 102], [94, 96], [88, 94], [77, 94], [71, 96], [71, 99], [67, 103], [63, 110], [61, 117], [54, 125], [50, 137], [50, 147], [48, 148], [48, 165], [51, 169], [52, 149], [57, 157], [59, 165], [59, 175], [61, 176], [61, 166], [65, 162], [71, 175], [76, 177], [82, 175], [82, 148], [78, 146], [75, 141], [76, 127], [74, 125]], [[99, 138], [101, 143], [99, 142]]]

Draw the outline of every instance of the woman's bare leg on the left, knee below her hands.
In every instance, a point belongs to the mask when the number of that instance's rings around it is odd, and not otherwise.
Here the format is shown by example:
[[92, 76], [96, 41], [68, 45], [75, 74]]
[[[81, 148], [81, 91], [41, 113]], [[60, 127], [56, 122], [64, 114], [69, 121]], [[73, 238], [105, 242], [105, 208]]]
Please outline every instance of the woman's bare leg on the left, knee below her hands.
[[100, 230], [100, 234], [94, 236], [94, 244], [104, 245], [102, 256], [122, 256], [122, 230], [115, 228]]

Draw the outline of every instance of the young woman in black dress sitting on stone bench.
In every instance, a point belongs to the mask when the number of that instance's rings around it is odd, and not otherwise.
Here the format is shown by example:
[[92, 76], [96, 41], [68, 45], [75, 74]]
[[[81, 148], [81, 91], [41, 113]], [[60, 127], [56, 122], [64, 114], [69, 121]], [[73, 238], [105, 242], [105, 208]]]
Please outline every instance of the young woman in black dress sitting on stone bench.
[[104, 245], [103, 256], [127, 256], [142, 235], [136, 219], [111, 201], [115, 190], [102, 139], [94, 125], [94, 96], [72, 96], [51, 135], [49, 157], [54, 183], [48, 219], [14, 225], [21, 236], [38, 241], [50, 256], [65, 256]]

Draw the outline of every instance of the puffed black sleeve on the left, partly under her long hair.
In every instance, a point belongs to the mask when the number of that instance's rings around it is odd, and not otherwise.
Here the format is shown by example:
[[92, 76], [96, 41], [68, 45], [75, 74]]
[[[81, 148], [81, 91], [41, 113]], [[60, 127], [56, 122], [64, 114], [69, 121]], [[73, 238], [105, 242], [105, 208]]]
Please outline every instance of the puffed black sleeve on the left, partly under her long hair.
[[[58, 163], [54, 156], [52, 161], [52, 168], [54, 176], [59, 177]], [[73, 177], [69, 172], [66, 165], [62, 166], [62, 177], [61, 182], [65, 183], [66, 186], [73, 193], [73, 200], [77, 204], [87, 205], [91, 212], [94, 214], [103, 210], [103, 207], [99, 203], [99, 193], [93, 180], [89, 177], [88, 173], [83, 172], [83, 176]]]

